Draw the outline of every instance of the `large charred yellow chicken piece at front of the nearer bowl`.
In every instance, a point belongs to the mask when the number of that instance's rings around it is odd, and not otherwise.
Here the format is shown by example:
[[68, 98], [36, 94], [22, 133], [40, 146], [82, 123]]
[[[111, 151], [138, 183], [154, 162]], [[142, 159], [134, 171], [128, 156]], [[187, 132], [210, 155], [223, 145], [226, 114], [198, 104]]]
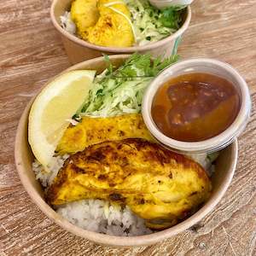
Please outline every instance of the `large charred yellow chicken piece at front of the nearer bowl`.
[[46, 199], [51, 205], [90, 198], [113, 201], [129, 206], [149, 228], [162, 230], [195, 212], [211, 187], [195, 161], [156, 143], [125, 139], [70, 156]]

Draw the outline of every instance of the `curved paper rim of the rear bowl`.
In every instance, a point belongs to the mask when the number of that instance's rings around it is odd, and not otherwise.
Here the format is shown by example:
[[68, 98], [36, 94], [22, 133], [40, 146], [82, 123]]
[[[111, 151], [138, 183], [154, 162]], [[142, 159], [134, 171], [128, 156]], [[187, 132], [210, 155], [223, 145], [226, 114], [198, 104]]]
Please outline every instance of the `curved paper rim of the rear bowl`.
[[68, 38], [70, 41], [72, 41], [75, 44], [79, 44], [81, 46], [87, 47], [89, 49], [96, 49], [98, 51], [102, 51], [102, 52], [111, 52], [111, 53], [132, 53], [132, 52], [136, 52], [136, 51], [145, 51], [145, 50], [150, 50], [150, 49], [158, 49], [161, 46], [171, 42], [172, 40], [178, 38], [179, 36], [181, 36], [183, 34], [183, 32], [185, 32], [185, 30], [189, 27], [189, 23], [191, 20], [191, 8], [190, 6], [188, 6], [186, 8], [186, 19], [183, 22], [183, 26], [181, 26], [177, 32], [174, 32], [172, 35], [161, 39], [160, 41], [157, 42], [153, 42], [152, 44], [147, 44], [147, 45], [142, 45], [142, 46], [131, 46], [131, 47], [106, 47], [106, 46], [100, 46], [100, 45], [96, 45], [96, 44], [90, 44], [89, 42], [84, 41], [83, 39], [78, 38], [76, 35], [71, 34], [70, 32], [67, 32], [66, 30], [64, 30], [58, 23], [58, 21], [55, 19], [55, 6], [56, 4], [61, 1], [61, 0], [54, 0], [51, 3], [50, 6], [50, 19], [53, 23], [53, 25], [55, 26], [55, 28], [57, 29], [58, 32], [61, 33], [61, 35], [65, 38]]

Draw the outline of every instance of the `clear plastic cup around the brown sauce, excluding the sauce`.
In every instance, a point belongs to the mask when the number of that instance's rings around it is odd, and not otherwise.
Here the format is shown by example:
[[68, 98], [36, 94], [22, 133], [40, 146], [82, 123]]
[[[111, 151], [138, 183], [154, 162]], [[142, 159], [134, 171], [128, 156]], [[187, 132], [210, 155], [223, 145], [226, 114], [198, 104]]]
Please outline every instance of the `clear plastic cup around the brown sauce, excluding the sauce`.
[[[167, 137], [159, 130], [157, 125], [155, 125], [154, 119], [151, 116], [154, 95], [160, 86], [172, 78], [187, 73], [210, 73], [229, 80], [236, 87], [241, 101], [240, 110], [233, 123], [217, 136], [200, 142], [183, 142]], [[242, 79], [241, 75], [234, 67], [231, 67], [229, 64], [222, 61], [207, 58], [195, 58], [178, 61], [176, 64], [167, 67], [160, 73], [151, 84], [148, 85], [148, 89], [143, 96], [142, 111], [143, 119], [148, 130], [164, 147], [182, 154], [206, 154], [228, 146], [241, 134], [241, 131], [245, 129], [250, 116], [251, 98], [246, 81]]]

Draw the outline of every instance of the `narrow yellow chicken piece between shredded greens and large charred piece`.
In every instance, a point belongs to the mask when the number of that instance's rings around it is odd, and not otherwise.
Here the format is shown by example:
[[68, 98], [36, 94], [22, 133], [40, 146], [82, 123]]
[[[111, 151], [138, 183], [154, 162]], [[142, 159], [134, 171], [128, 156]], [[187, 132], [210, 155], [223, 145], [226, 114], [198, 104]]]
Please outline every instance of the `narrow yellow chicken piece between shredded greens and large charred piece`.
[[78, 125], [67, 128], [56, 148], [56, 152], [74, 154], [92, 144], [132, 137], [153, 141], [153, 137], [150, 136], [143, 117], [139, 113], [110, 118], [84, 117]]

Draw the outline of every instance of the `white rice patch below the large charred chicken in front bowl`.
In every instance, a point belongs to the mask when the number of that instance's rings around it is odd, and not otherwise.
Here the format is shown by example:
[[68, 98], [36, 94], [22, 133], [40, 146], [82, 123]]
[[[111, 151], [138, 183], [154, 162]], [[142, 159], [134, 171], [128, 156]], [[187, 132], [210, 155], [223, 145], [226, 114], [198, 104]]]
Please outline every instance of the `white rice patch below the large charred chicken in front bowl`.
[[152, 230], [145, 227], [143, 218], [138, 218], [129, 207], [122, 208], [108, 201], [73, 201], [58, 207], [56, 212], [84, 230], [111, 236], [142, 236], [152, 233]]

